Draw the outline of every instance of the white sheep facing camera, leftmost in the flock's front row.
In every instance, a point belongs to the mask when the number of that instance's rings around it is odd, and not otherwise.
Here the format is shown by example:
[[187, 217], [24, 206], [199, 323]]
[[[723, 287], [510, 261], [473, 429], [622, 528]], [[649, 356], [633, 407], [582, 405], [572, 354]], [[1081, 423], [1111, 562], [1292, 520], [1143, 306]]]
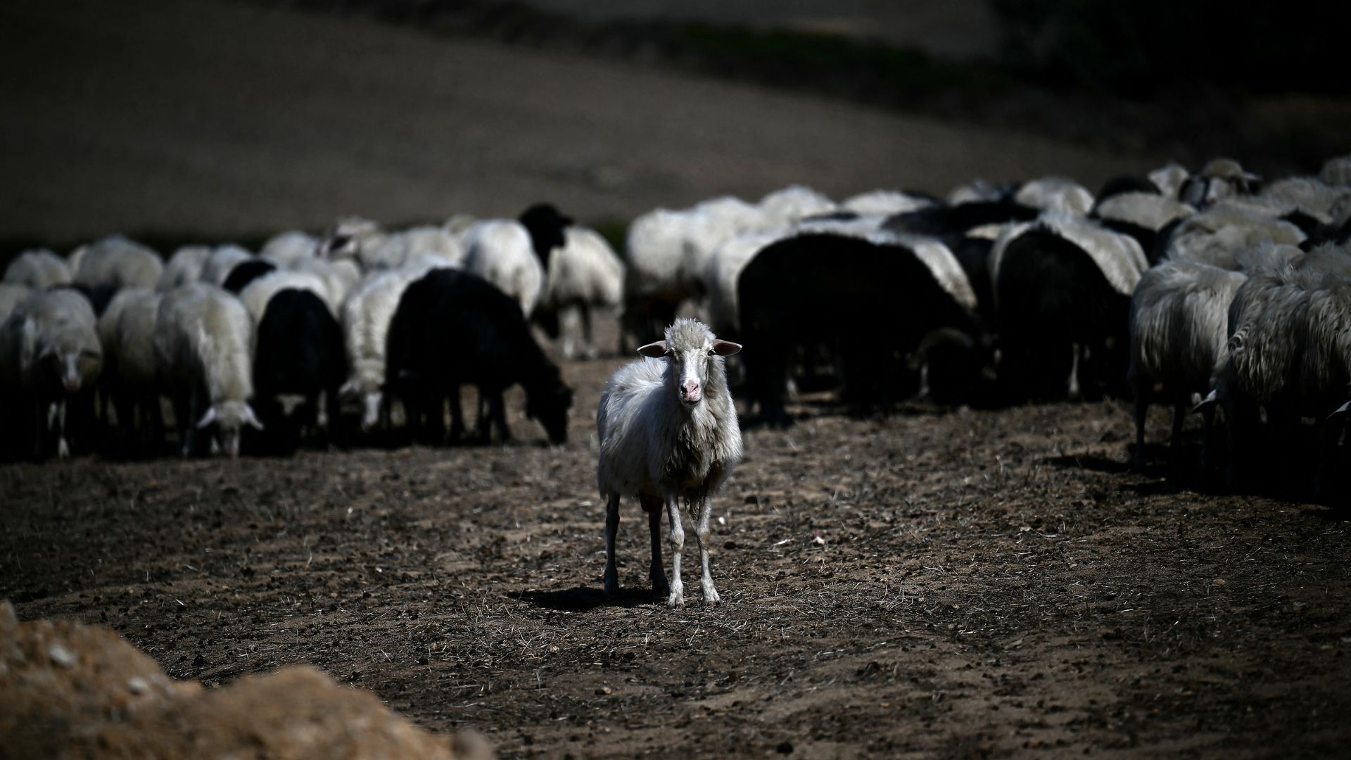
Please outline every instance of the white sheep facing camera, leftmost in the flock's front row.
[[103, 346], [93, 308], [77, 291], [32, 292], [5, 323], [11, 380], [34, 414], [34, 456], [46, 449], [57, 426], [57, 456], [70, 456], [68, 414], [88, 417], [93, 385], [103, 369]]

